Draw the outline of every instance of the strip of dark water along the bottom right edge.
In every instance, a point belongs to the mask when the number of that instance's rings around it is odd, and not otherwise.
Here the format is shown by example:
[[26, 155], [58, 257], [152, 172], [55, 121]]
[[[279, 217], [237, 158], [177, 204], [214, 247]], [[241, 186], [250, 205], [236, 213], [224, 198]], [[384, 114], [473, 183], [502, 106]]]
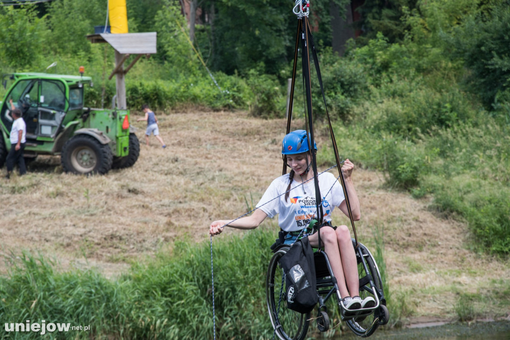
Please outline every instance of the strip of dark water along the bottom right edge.
[[[510, 340], [510, 321], [475, 322], [471, 324], [455, 323], [435, 327], [416, 327], [404, 329], [377, 329], [370, 340]], [[359, 339], [349, 331], [344, 332], [338, 340]]]

